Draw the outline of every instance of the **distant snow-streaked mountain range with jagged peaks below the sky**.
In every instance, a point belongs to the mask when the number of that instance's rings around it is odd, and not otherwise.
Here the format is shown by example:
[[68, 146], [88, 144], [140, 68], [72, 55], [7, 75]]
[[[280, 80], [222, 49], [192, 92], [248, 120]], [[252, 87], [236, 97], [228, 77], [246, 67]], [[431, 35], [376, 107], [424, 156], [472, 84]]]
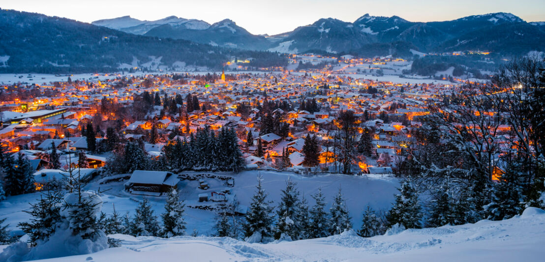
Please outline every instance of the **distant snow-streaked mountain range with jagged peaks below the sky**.
[[441, 22], [410, 22], [398, 16], [365, 14], [354, 22], [319, 19], [311, 25], [272, 36], [251, 34], [232, 20], [210, 25], [201, 20], [175, 16], [156, 21], [141, 21], [123, 16], [94, 21], [93, 24], [152, 37], [291, 53], [309, 50], [358, 53], [368, 47], [373, 49], [390, 44], [403, 46], [405, 51], [482, 50], [520, 54], [531, 50], [543, 51], [545, 46], [545, 22], [528, 23], [510, 13], [473, 15]]

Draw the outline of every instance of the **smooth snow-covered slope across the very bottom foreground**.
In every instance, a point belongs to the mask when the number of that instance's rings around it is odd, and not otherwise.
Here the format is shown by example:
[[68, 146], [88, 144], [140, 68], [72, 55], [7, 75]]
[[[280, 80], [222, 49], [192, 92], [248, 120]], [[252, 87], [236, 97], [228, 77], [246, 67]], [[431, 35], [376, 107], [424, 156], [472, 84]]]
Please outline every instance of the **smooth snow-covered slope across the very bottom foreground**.
[[112, 237], [122, 239], [122, 247], [40, 261], [543, 261], [545, 212], [530, 208], [504, 221], [409, 229], [370, 238], [345, 232], [269, 244], [228, 237]]

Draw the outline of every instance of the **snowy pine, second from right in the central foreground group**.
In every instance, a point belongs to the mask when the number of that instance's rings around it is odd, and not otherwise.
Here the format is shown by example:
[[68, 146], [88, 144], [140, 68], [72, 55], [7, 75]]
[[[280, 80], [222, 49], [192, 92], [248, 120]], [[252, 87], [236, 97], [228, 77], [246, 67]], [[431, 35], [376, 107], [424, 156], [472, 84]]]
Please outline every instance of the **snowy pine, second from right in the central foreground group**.
[[311, 223], [308, 231], [308, 237], [316, 239], [318, 237], [330, 236], [329, 216], [325, 212], [325, 197], [322, 193], [322, 187], [318, 188], [318, 193], [312, 196], [316, 205], [310, 210]]

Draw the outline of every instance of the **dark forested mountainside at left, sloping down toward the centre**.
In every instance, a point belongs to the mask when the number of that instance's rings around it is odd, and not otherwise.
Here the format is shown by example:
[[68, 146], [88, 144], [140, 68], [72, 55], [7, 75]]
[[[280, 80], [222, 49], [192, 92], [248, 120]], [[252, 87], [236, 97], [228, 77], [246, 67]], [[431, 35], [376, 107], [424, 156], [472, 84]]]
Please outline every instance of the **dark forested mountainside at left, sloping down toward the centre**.
[[[175, 23], [175, 19], [161, 20], [168, 21]], [[118, 25], [131, 23], [134, 21], [126, 19]], [[62, 17], [0, 10], [0, 73], [220, 69], [235, 58], [250, 59], [250, 67], [287, 64], [286, 57], [271, 52], [160, 39]]]

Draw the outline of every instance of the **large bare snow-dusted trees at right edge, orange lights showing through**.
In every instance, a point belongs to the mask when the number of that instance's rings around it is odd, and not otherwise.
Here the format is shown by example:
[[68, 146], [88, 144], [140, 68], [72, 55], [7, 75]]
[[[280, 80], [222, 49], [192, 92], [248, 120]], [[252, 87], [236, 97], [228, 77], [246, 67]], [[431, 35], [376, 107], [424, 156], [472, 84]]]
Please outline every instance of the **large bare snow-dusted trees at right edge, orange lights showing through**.
[[433, 225], [501, 220], [544, 207], [545, 68], [541, 58], [507, 64], [487, 85], [468, 84], [429, 106], [398, 173], [431, 193]]

